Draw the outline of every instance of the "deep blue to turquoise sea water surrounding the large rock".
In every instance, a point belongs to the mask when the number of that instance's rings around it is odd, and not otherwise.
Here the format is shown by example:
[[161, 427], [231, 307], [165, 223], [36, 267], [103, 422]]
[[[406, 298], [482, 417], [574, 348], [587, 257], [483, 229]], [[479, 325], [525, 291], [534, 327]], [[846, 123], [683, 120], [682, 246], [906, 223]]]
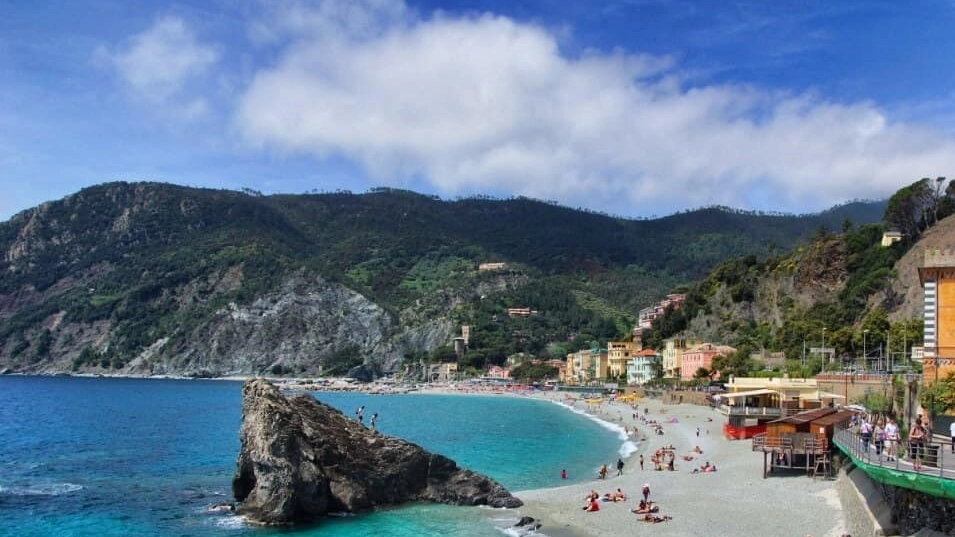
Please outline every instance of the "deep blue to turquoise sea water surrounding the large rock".
[[[519, 510], [413, 504], [295, 529], [210, 512], [231, 501], [240, 382], [0, 377], [0, 535], [500, 537]], [[590, 479], [635, 446], [539, 399], [315, 393], [511, 491]], [[561, 470], [568, 479], [562, 480]]]

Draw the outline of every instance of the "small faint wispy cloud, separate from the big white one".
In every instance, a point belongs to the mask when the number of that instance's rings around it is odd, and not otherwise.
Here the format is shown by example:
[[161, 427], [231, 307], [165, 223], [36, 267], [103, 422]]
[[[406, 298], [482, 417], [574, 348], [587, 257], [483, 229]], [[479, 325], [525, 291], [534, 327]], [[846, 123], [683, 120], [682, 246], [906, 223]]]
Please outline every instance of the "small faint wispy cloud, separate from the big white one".
[[[199, 42], [186, 23], [162, 17], [123, 47], [98, 55], [114, 67], [139, 96], [164, 101], [177, 95], [194, 78], [207, 72], [219, 58], [215, 47]], [[190, 105], [195, 112], [196, 101]]]

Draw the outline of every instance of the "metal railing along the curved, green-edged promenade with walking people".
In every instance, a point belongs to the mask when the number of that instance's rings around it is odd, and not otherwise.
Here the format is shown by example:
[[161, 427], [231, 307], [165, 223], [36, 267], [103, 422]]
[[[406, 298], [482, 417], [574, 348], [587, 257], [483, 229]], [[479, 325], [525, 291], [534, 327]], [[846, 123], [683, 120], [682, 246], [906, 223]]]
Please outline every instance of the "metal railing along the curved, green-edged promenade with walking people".
[[[912, 458], [914, 446], [907, 440], [899, 440], [894, 445], [886, 441], [880, 448], [874, 440], [869, 440], [867, 444], [863, 442], [857, 427], [844, 424], [836, 427], [833, 442], [853, 458], [868, 465], [943, 479], [955, 479], [955, 453], [951, 452], [951, 442], [926, 441], [921, 448], [922, 457], [918, 470]], [[892, 449], [895, 450], [894, 453], [890, 452]]]

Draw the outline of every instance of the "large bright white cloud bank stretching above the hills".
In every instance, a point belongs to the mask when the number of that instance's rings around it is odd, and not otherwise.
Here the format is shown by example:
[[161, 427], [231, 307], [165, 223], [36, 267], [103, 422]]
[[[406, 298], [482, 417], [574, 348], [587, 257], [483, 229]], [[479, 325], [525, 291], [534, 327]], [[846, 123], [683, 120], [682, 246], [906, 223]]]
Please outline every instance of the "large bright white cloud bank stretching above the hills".
[[952, 140], [871, 103], [691, 87], [668, 58], [567, 57], [547, 30], [504, 17], [416, 18], [377, 0], [279, 15], [280, 59], [241, 97], [239, 131], [351, 159], [377, 184], [618, 214], [802, 210], [887, 196], [955, 162]]

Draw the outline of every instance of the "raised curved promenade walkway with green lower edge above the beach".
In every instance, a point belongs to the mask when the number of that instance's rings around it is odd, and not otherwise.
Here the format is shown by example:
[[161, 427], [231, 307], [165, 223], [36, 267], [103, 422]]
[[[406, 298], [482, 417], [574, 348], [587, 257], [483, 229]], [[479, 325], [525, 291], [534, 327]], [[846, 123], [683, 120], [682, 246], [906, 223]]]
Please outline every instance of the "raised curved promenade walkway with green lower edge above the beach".
[[833, 443], [874, 481], [955, 500], [955, 453], [950, 441], [940, 439], [936, 436], [926, 443], [922, 467], [916, 470], [905, 442], [890, 460], [886, 452], [876, 454], [871, 442], [865, 449], [862, 437], [851, 428], [838, 428], [833, 434]]

